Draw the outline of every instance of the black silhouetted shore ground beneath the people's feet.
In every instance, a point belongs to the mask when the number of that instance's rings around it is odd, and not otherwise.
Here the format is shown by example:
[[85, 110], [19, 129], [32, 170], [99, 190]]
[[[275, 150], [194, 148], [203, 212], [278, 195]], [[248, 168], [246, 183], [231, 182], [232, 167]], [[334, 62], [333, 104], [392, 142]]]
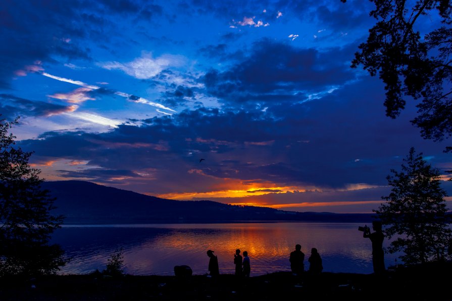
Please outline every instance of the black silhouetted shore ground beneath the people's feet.
[[237, 279], [220, 275], [0, 278], [0, 300], [452, 300], [452, 264], [399, 268], [384, 277], [290, 272]]

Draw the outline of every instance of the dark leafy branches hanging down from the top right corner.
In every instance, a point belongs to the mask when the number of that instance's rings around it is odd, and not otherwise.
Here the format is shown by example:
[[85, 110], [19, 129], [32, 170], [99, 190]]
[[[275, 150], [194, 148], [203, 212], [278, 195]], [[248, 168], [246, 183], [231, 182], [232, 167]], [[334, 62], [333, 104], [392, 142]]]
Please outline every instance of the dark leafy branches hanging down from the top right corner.
[[[399, 115], [406, 105], [404, 97], [422, 99], [418, 116], [411, 121], [420, 127], [422, 137], [434, 141], [450, 137], [452, 0], [370, 1], [375, 4], [370, 16], [378, 21], [351, 66], [362, 64], [372, 76], [378, 73], [385, 84], [387, 116]], [[421, 34], [419, 23], [426, 18], [436, 22], [435, 29]]]

